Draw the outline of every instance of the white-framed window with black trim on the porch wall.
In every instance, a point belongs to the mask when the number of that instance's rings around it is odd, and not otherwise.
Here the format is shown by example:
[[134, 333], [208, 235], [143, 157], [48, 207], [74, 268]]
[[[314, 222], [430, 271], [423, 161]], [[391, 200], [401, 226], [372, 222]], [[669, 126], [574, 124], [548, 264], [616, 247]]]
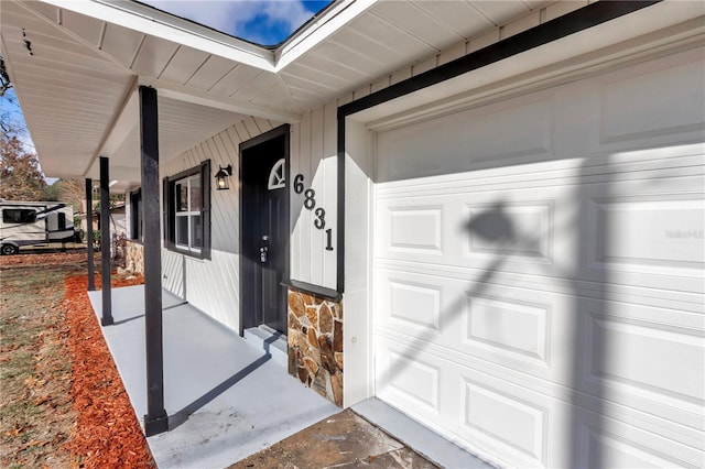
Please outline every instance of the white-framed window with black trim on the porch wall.
[[167, 249], [210, 259], [210, 160], [164, 178]]

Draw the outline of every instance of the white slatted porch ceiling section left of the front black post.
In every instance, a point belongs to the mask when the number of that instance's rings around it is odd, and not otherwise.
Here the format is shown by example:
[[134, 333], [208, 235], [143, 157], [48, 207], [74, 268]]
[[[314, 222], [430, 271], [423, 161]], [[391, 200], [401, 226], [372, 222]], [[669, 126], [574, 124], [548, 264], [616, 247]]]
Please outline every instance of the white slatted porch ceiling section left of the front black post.
[[[21, 2], [2, 2], [2, 54], [42, 168], [52, 177], [82, 175], [106, 138], [134, 77]], [[26, 34], [26, 36], [24, 35]], [[32, 53], [24, 41], [30, 41]]]

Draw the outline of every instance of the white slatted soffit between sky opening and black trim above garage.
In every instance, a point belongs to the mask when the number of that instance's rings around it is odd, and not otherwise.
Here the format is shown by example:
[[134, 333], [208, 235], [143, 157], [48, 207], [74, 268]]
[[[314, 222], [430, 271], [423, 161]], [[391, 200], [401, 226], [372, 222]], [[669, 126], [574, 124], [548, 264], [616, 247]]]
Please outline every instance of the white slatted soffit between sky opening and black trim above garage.
[[[484, 36], [500, 37], [500, 26], [522, 18], [540, 22], [540, 9], [551, 1], [404, 0], [355, 2], [358, 11], [343, 25], [335, 18], [300, 43], [284, 44], [276, 67], [301, 106], [315, 106], [354, 91], [398, 70], [423, 63], [436, 65], [449, 48]], [[587, 4], [587, 1], [583, 2]], [[506, 32], [507, 33], [507, 32]], [[317, 36], [321, 35], [321, 37]], [[325, 41], [323, 40], [325, 37]], [[294, 37], [295, 40], [296, 37]]]

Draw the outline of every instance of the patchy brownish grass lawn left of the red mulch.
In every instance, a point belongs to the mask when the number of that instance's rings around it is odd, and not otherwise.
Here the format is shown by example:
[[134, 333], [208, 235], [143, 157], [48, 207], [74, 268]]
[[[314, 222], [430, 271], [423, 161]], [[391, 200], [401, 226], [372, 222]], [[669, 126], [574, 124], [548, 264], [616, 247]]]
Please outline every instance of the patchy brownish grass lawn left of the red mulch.
[[76, 416], [69, 395], [64, 280], [85, 270], [77, 254], [63, 260], [67, 262], [52, 265], [53, 254], [46, 262], [0, 264], [2, 467], [70, 466], [63, 446]]

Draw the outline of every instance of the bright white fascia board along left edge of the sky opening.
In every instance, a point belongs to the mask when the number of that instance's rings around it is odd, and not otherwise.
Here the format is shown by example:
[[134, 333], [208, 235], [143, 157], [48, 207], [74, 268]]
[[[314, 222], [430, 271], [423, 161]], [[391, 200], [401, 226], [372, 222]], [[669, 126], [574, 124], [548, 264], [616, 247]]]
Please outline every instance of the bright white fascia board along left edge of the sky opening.
[[85, 14], [262, 70], [274, 72], [274, 53], [272, 51], [140, 3], [111, 0], [42, 1], [56, 8]]

